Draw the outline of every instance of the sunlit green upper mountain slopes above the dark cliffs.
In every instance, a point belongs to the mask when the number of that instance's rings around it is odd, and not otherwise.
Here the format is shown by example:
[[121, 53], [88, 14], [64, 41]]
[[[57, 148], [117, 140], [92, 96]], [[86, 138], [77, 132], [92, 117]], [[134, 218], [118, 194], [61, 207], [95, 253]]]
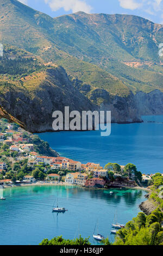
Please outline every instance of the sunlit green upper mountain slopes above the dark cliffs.
[[163, 88], [162, 25], [132, 15], [82, 12], [52, 19], [16, 0], [1, 0], [0, 22], [1, 43], [61, 65], [91, 90], [126, 96], [129, 90]]

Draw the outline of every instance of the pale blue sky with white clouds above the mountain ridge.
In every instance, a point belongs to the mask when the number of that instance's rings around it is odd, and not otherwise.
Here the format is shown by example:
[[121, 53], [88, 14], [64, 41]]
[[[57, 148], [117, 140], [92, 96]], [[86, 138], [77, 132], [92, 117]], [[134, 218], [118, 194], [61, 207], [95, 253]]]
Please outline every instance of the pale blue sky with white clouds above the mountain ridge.
[[131, 14], [163, 24], [163, 0], [19, 0], [51, 17], [85, 13]]

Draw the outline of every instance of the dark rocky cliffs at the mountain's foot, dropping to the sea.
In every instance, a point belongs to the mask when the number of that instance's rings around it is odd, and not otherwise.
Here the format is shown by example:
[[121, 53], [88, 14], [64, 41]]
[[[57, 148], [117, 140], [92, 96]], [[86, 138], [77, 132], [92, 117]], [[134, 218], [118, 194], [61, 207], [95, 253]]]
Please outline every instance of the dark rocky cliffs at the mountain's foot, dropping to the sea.
[[[102, 104], [97, 104], [103, 98]], [[95, 103], [96, 102], [96, 103]], [[93, 90], [90, 99], [75, 88], [62, 67], [49, 68], [34, 88], [9, 87], [0, 93], [0, 105], [30, 132], [53, 130], [53, 111], [111, 110], [112, 122], [140, 122], [134, 94], [113, 96], [101, 89]]]

